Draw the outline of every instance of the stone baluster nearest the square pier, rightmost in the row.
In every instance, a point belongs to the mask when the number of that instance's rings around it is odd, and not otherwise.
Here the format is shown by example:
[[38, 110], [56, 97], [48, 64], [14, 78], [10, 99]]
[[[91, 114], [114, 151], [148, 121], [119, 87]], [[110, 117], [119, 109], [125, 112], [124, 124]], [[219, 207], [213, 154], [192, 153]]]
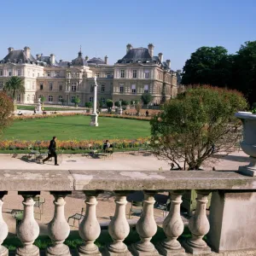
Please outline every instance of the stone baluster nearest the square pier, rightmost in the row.
[[210, 224], [207, 218], [207, 195], [211, 193], [209, 190], [196, 190], [196, 208], [195, 214], [189, 219], [189, 230], [192, 237], [184, 244], [188, 253], [210, 253], [211, 248], [203, 241], [203, 237], [210, 230]]

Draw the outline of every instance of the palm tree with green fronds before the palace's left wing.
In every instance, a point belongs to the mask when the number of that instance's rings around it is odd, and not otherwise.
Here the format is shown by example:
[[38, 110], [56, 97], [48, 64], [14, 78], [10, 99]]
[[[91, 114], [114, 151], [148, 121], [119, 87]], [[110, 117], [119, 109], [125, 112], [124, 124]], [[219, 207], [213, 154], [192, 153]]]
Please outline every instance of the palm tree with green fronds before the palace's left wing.
[[18, 93], [25, 93], [24, 81], [19, 77], [11, 77], [3, 86], [3, 90], [7, 91], [15, 102]]

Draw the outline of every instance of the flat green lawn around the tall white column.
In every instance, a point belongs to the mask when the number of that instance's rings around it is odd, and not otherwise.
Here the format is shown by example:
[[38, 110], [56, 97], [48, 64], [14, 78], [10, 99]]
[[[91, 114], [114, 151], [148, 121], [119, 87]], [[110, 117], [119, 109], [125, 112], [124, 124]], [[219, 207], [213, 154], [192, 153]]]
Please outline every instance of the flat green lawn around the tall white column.
[[99, 117], [99, 126], [90, 126], [90, 116], [75, 115], [48, 119], [15, 120], [3, 132], [2, 139], [60, 140], [113, 139], [150, 136], [150, 125], [145, 120]]

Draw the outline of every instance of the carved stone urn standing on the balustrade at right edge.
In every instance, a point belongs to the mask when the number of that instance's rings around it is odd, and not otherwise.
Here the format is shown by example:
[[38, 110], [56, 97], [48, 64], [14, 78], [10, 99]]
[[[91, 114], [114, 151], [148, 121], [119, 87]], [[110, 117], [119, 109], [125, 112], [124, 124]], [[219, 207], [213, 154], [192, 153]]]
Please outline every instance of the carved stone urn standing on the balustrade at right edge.
[[256, 114], [238, 112], [235, 115], [238, 119], [241, 119], [243, 125], [241, 149], [250, 156], [250, 164], [239, 166], [239, 172], [247, 176], [256, 176]]

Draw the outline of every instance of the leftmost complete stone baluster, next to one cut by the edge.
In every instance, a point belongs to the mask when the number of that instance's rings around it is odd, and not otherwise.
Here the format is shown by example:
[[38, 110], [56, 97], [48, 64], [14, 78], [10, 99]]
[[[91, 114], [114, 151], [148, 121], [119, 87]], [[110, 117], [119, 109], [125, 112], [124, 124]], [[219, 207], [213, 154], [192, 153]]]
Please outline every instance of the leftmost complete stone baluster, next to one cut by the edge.
[[24, 215], [17, 229], [17, 236], [22, 242], [23, 247], [18, 247], [16, 249], [16, 256], [39, 256], [39, 249], [33, 242], [39, 235], [39, 225], [34, 218], [34, 204], [33, 197], [40, 195], [40, 192], [18, 192], [22, 195], [24, 201], [22, 202], [24, 206]]

